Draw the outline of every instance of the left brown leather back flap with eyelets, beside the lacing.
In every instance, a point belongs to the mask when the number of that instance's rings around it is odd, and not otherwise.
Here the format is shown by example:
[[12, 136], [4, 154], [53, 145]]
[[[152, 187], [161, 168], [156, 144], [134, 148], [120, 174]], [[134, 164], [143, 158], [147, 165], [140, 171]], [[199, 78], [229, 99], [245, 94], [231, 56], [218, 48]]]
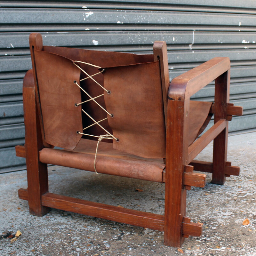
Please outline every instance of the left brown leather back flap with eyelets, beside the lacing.
[[36, 75], [43, 116], [45, 141], [51, 145], [74, 149], [82, 131], [80, 70], [71, 60], [49, 52], [34, 50]]

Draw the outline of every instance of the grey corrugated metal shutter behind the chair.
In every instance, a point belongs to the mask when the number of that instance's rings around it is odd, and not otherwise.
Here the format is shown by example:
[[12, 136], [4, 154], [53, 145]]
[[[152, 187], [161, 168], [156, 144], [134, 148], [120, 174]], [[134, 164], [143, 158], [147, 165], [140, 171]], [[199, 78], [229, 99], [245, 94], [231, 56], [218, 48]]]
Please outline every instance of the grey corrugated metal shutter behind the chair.
[[[171, 2], [171, 3], [170, 3]], [[171, 78], [216, 56], [231, 59], [231, 102], [244, 107], [230, 131], [256, 128], [256, 1], [0, 1], [0, 172], [24, 168], [22, 79], [30, 32], [45, 45], [151, 52], [165, 40]], [[212, 99], [213, 85], [195, 96]]]

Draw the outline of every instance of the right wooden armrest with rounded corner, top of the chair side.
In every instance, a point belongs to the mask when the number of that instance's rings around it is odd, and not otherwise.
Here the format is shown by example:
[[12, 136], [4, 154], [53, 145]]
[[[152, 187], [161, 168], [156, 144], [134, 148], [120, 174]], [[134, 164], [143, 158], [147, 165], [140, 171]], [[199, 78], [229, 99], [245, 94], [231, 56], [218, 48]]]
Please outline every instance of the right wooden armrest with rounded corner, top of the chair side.
[[228, 57], [215, 57], [175, 77], [169, 86], [168, 99], [187, 100], [230, 68]]

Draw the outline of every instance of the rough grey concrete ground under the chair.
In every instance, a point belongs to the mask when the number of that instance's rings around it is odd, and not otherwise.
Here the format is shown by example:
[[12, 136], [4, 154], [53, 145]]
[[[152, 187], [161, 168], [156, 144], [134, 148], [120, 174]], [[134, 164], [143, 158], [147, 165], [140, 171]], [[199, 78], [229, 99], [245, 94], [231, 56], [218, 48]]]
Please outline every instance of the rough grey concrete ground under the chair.
[[[198, 157], [211, 161], [212, 145]], [[29, 215], [17, 190], [27, 188], [26, 171], [0, 174], [0, 255], [243, 255], [256, 256], [256, 132], [229, 136], [228, 161], [240, 176], [224, 186], [211, 184], [188, 191], [187, 216], [202, 222], [203, 235], [189, 237], [182, 251], [164, 246], [163, 232], [51, 209]], [[70, 168], [49, 168], [50, 192], [147, 212], [164, 213], [164, 184]], [[245, 219], [248, 225], [243, 225]]]

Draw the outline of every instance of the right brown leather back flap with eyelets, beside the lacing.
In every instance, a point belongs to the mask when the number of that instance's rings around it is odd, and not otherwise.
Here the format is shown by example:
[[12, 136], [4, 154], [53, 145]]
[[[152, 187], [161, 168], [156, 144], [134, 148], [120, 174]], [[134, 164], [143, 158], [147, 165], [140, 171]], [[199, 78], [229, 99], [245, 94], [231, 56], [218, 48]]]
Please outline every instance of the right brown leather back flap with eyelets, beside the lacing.
[[105, 68], [104, 92], [113, 147], [147, 158], [165, 157], [165, 121], [159, 61]]

